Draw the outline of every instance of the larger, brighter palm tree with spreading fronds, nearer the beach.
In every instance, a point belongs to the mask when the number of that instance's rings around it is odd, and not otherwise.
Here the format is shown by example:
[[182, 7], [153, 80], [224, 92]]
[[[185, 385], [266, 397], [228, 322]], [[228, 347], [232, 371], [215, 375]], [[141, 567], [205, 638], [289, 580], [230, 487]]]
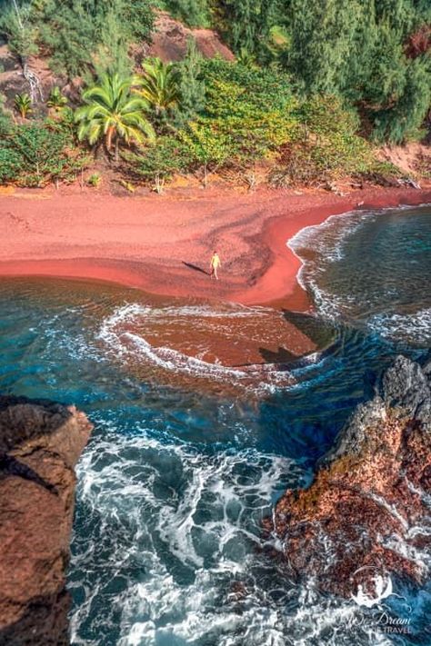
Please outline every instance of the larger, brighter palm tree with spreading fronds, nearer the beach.
[[108, 153], [115, 142], [115, 161], [121, 139], [126, 144], [155, 139], [153, 126], [145, 118], [148, 104], [143, 97], [131, 94], [132, 84], [131, 77], [105, 74], [99, 84], [85, 90], [82, 95], [85, 104], [75, 111], [78, 139], [87, 139], [93, 145], [104, 138]]

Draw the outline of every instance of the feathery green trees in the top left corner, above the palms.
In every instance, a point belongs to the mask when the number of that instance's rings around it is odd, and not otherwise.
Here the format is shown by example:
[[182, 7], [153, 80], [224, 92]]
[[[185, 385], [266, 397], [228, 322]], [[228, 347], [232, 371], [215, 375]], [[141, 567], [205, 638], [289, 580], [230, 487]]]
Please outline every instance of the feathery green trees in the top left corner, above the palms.
[[[125, 58], [127, 45], [149, 38], [153, 4], [149, 0], [3, 0], [0, 33], [18, 54], [34, 54], [37, 47], [51, 55], [57, 74], [81, 75], [97, 65]], [[21, 25], [20, 25], [21, 23]]]

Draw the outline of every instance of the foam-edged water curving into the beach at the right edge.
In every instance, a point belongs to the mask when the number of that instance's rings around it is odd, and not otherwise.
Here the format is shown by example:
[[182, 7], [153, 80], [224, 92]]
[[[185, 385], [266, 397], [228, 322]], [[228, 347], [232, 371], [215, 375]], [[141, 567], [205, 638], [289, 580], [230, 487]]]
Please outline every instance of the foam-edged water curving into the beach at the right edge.
[[301, 260], [298, 282], [320, 315], [426, 347], [430, 231], [427, 205], [357, 211], [308, 226], [287, 245]]

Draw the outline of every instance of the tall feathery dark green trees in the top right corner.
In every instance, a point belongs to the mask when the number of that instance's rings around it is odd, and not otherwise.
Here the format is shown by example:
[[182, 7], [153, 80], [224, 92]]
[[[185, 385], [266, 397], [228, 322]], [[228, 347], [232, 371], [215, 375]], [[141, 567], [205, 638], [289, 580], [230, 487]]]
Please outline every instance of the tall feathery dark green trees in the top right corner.
[[[373, 137], [401, 143], [417, 134], [429, 109], [431, 63], [409, 46], [431, 21], [419, 0], [285, 0], [287, 71], [308, 95], [354, 102]], [[414, 95], [416, 94], [416, 104]], [[414, 109], [413, 109], [414, 107]]]

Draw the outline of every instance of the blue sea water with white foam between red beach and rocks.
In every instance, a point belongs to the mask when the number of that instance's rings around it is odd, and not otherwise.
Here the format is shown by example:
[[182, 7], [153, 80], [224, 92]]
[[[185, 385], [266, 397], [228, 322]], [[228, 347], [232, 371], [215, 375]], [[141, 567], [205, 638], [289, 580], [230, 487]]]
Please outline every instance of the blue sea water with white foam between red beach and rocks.
[[[74, 644], [431, 642], [428, 587], [408, 591], [411, 634], [388, 637], [373, 611], [291, 581], [260, 532], [277, 496], [310, 482], [373, 374], [430, 347], [431, 209], [347, 214], [290, 244], [311, 320], [110, 285], [0, 283], [2, 391], [75, 403], [95, 423], [78, 465]], [[286, 372], [226, 368], [202, 345], [223, 330], [234, 349], [246, 330], [277, 348], [286, 319], [330, 339]]]

